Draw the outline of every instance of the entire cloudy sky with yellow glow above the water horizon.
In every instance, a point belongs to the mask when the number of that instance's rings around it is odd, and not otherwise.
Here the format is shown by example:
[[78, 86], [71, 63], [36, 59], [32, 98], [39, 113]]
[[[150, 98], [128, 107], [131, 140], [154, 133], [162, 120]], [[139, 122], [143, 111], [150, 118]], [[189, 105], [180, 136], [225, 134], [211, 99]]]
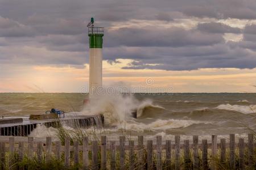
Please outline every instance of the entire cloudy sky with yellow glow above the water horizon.
[[255, 0], [0, 0], [0, 92], [80, 92], [91, 17], [105, 85], [256, 92]]

